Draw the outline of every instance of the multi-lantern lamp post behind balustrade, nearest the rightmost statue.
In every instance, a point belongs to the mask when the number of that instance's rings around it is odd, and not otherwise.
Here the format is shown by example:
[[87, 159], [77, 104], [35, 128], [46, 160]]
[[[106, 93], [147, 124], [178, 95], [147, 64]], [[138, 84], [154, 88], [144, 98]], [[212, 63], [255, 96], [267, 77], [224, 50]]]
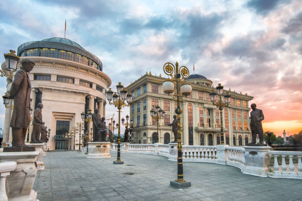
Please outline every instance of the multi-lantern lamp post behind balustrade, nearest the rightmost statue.
[[[217, 93], [215, 91], [212, 91], [210, 93], [210, 99], [213, 102], [213, 105], [219, 108], [220, 110], [220, 142], [221, 145], [224, 145], [224, 135], [223, 135], [223, 119], [222, 119], [222, 110], [224, 107], [229, 107], [229, 103], [231, 102], [231, 95], [225, 94], [224, 96], [224, 102], [221, 99], [221, 96], [223, 94], [223, 86], [221, 86], [221, 83], [218, 84], [216, 87]], [[219, 96], [218, 102], [215, 102], [215, 97]]]

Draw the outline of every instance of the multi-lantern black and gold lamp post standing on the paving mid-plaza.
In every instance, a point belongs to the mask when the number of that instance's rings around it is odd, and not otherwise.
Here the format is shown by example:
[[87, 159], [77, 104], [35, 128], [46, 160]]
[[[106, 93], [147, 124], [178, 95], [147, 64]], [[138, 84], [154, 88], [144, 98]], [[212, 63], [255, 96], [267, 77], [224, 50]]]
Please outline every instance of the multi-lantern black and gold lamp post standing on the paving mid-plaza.
[[[117, 133], [117, 160], [113, 161], [113, 164], [124, 164], [124, 161], [120, 160], [120, 109], [122, 107], [129, 107], [131, 100], [132, 100], [132, 94], [130, 94], [123, 85], [119, 82], [118, 85], [116, 85], [117, 93], [111, 91], [111, 88], [107, 91], [107, 99], [109, 101], [110, 105], [114, 105], [114, 107], [117, 107], [118, 109], [118, 133]], [[112, 102], [111, 102], [112, 100]], [[127, 103], [125, 102], [127, 101]]]

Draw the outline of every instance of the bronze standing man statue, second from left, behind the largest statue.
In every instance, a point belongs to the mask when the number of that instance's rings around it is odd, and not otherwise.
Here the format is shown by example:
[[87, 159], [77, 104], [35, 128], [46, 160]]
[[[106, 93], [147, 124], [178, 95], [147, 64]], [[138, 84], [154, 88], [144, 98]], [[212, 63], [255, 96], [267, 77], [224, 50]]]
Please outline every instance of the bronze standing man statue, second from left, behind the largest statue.
[[40, 132], [42, 124], [42, 108], [43, 104], [38, 103], [38, 107], [34, 111], [33, 131], [31, 132], [31, 142], [42, 143], [40, 141]]

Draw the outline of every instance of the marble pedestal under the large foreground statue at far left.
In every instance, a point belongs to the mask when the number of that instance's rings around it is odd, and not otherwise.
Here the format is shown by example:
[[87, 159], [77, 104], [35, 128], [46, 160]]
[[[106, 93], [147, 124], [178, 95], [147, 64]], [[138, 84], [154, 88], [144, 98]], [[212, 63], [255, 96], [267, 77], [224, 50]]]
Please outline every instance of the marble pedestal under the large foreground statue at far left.
[[37, 192], [33, 190], [37, 175], [38, 152], [1, 152], [0, 162], [15, 161], [17, 166], [8, 175], [7, 196], [10, 201], [36, 201]]

